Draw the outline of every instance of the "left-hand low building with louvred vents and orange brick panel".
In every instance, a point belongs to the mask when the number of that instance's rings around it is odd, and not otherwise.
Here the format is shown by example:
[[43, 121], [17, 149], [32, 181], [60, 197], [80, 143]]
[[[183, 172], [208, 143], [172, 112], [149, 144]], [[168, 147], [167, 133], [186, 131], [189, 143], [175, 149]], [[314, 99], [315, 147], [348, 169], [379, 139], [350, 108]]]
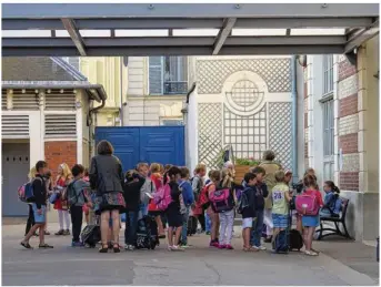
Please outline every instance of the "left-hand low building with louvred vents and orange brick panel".
[[16, 191], [38, 161], [48, 162], [53, 178], [61, 163], [89, 166], [90, 111], [106, 98], [60, 58], [2, 59], [3, 216], [28, 214]]

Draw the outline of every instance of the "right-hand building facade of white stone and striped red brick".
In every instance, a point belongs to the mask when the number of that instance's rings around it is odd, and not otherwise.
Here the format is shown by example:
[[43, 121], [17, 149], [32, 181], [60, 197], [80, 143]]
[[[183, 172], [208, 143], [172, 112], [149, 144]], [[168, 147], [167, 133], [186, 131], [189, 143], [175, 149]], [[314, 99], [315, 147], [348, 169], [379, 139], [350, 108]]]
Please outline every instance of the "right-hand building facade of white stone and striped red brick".
[[319, 184], [333, 181], [350, 199], [350, 234], [360, 240], [379, 235], [379, 37], [357, 53], [308, 55], [304, 68], [304, 168]]

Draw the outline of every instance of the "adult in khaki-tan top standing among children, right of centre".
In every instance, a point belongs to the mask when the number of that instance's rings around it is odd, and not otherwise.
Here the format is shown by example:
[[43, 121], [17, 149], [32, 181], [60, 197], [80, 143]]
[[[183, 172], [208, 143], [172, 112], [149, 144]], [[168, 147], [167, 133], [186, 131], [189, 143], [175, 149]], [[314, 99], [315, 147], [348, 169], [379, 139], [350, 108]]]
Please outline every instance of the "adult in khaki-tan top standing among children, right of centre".
[[[280, 164], [274, 162], [275, 158], [275, 153], [273, 151], [265, 151], [263, 153], [263, 161], [259, 166], [263, 167], [265, 171], [264, 174], [264, 183], [268, 186], [269, 195], [271, 194], [270, 191], [275, 186], [277, 181], [274, 174], [282, 170]], [[268, 196], [264, 198], [264, 224], [267, 226], [265, 228], [265, 235], [267, 239], [264, 242], [269, 243], [271, 242], [272, 238], [272, 215], [271, 215], [271, 209], [272, 209], [272, 201], [271, 196]]]

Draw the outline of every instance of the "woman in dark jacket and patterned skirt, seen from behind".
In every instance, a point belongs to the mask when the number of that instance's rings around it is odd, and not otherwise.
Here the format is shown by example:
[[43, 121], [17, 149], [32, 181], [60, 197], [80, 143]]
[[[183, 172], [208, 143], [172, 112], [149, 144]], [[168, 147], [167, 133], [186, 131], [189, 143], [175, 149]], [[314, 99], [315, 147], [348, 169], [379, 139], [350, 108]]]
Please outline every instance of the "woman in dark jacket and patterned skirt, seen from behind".
[[113, 147], [108, 141], [101, 141], [97, 146], [98, 155], [91, 158], [89, 171], [90, 186], [97, 191], [96, 213], [101, 216], [101, 240], [100, 253], [108, 252], [108, 232], [110, 218], [112, 218], [113, 252], [120, 253], [119, 211], [124, 208], [123, 170], [119, 158], [113, 154]]

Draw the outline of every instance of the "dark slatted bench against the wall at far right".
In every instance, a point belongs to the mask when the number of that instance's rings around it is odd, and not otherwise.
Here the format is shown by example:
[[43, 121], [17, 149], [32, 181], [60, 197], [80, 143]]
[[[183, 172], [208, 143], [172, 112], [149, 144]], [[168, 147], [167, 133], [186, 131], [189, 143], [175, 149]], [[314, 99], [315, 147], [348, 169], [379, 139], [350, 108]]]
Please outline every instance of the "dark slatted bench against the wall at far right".
[[[340, 197], [342, 201], [341, 204], [341, 215], [339, 217], [331, 217], [331, 216], [321, 216], [320, 217], [320, 228], [315, 230], [315, 233], [319, 233], [318, 240], [321, 240], [322, 238], [330, 236], [330, 235], [340, 235], [342, 237], [345, 237], [348, 239], [352, 239], [352, 237], [349, 235], [347, 225], [345, 225], [345, 217], [347, 217], [347, 211], [349, 206], [349, 199]], [[323, 227], [323, 223], [334, 223], [334, 228]], [[344, 233], [342, 233], [339, 228], [339, 224], [342, 224]], [[324, 232], [330, 232], [327, 234], [323, 234]]]

